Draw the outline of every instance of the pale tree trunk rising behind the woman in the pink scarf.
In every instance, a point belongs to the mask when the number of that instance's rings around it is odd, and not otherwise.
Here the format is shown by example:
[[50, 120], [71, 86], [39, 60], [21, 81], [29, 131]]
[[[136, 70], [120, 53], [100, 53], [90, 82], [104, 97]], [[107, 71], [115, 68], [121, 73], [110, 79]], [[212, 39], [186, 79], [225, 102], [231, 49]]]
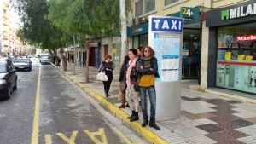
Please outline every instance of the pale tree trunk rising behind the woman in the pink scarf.
[[121, 20], [121, 61], [124, 61], [127, 52], [127, 23], [125, 14], [125, 0], [120, 0], [120, 20]]

